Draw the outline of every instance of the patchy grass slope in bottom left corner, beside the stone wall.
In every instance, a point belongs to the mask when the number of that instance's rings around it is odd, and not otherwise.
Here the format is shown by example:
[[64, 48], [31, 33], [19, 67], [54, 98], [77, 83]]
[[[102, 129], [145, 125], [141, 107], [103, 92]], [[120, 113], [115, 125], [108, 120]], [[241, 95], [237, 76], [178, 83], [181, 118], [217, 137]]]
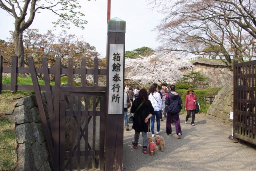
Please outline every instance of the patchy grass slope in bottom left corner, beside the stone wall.
[[0, 170], [14, 170], [17, 163], [16, 133], [9, 117], [0, 115]]

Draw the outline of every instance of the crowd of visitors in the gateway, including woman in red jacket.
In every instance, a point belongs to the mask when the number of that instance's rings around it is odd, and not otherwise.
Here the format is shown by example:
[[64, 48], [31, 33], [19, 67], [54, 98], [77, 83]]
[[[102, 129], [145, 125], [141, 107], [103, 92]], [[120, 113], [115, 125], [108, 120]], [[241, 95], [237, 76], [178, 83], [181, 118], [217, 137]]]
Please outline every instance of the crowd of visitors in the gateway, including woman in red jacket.
[[[141, 132], [143, 139], [143, 153], [147, 153], [147, 133], [150, 132], [150, 128], [152, 137], [155, 137], [155, 134], [158, 135], [160, 133], [160, 121], [162, 120], [162, 115], [166, 117], [166, 135], [170, 136], [172, 134], [172, 121], [175, 125], [178, 139], [180, 139], [182, 135], [179, 117], [179, 112], [182, 108], [182, 99], [180, 94], [176, 92], [174, 84], [167, 87], [166, 83], [162, 83], [161, 86], [162, 87], [157, 84], [152, 84], [148, 91], [144, 88], [140, 89], [137, 98], [132, 101], [132, 107], [130, 110], [131, 113], [134, 113], [132, 128], [135, 130], [132, 145], [134, 148], [138, 148], [138, 139]], [[137, 88], [138, 87], [136, 87], [136, 89]], [[185, 110], [187, 110], [185, 124], [187, 124], [190, 114], [192, 113], [192, 126], [195, 125], [195, 102], [197, 100], [193, 92], [192, 88], [189, 88], [185, 100]], [[128, 97], [128, 95], [128, 91], [127, 93], [124, 93], [124, 121], [126, 130], [129, 130], [126, 108], [128, 107], [128, 103], [130, 103], [130, 100], [128, 100], [130, 97]], [[155, 120], [156, 132], [154, 127]]]

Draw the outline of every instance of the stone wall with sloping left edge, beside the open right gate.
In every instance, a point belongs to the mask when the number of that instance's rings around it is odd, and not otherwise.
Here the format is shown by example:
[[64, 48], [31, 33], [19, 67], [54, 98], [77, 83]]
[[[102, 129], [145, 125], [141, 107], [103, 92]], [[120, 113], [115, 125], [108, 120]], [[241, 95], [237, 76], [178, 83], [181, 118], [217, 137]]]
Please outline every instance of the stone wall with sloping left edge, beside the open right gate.
[[226, 85], [215, 96], [206, 116], [232, 125], [233, 120], [229, 119], [230, 111], [233, 111], [233, 86]]

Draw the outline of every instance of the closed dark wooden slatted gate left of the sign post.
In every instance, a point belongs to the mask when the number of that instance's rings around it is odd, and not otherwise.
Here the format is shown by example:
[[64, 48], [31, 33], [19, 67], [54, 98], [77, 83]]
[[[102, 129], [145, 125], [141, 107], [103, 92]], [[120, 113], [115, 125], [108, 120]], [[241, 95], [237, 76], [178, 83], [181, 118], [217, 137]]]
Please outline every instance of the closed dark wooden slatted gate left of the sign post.
[[[76, 92], [76, 87], [72, 87], [73, 91], [61, 88], [60, 170], [88, 170], [88, 156], [92, 156], [89, 163], [92, 169], [97, 165], [100, 170], [104, 170], [105, 93]], [[97, 133], [96, 120], [99, 125]], [[88, 125], [91, 122], [92, 141], [89, 142]], [[99, 160], [96, 156], [99, 156]]]

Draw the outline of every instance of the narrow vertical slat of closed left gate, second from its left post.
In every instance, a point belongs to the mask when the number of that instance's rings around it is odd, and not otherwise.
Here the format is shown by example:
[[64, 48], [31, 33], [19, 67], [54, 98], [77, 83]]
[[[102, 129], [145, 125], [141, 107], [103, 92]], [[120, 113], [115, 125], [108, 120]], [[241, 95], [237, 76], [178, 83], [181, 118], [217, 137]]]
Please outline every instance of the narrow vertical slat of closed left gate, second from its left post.
[[81, 136], [81, 97], [78, 97], [78, 115], [77, 115], [77, 170], [80, 170], [80, 136]]

